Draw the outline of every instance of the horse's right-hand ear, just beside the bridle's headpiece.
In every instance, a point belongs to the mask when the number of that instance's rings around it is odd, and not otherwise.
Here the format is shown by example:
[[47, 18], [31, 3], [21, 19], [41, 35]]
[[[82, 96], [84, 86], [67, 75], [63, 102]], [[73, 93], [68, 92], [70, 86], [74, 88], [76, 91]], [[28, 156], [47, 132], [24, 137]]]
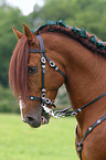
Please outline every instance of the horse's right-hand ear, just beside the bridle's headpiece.
[[30, 29], [26, 26], [26, 24], [23, 23], [23, 31], [24, 31], [24, 35], [26, 36], [26, 39], [29, 41], [33, 41], [33, 34], [30, 31]]

